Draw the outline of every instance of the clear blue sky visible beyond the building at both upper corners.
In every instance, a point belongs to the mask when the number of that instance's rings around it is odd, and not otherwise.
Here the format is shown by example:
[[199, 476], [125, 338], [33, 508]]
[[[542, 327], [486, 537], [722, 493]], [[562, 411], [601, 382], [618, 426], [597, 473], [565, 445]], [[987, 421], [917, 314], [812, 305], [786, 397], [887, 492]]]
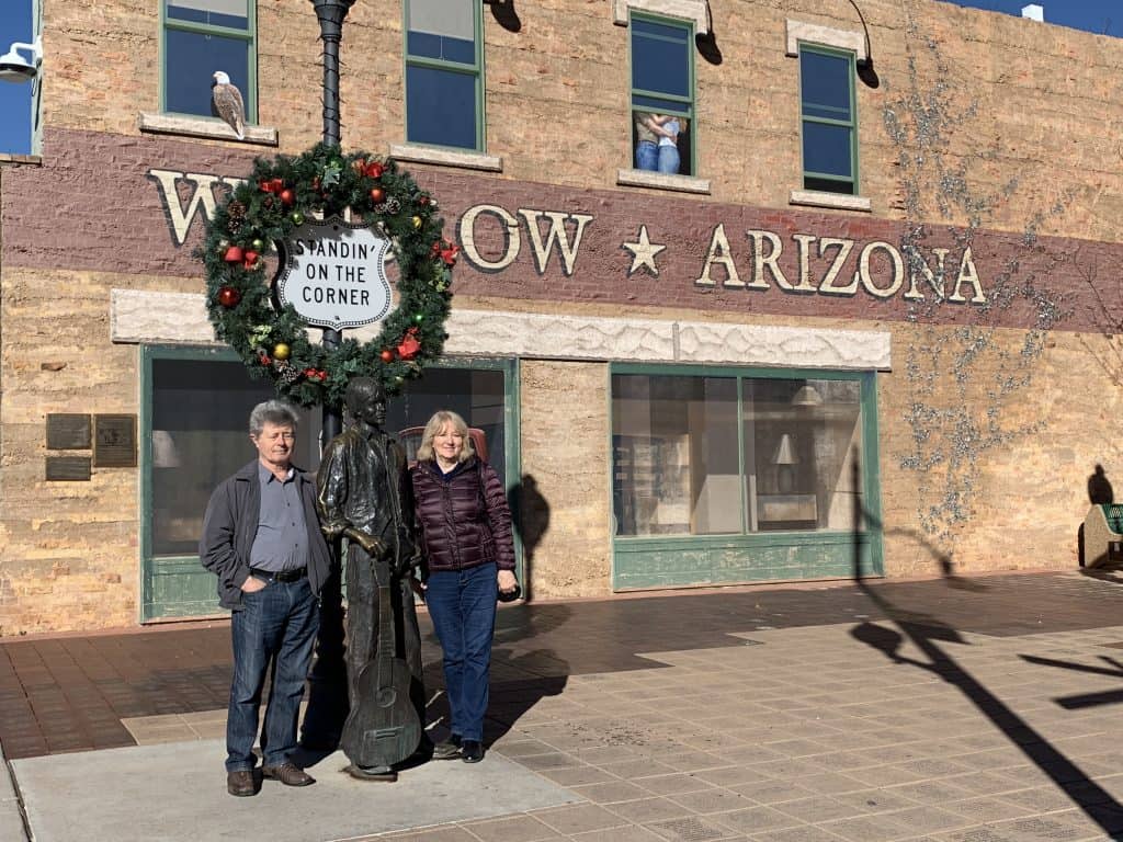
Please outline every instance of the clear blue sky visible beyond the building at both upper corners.
[[[944, 0], [957, 6], [1020, 15], [1028, 0]], [[1051, 24], [1123, 37], [1120, 0], [1038, 0]], [[0, 0], [0, 53], [12, 42], [31, 39], [31, 0]], [[26, 155], [31, 148], [31, 85], [0, 82], [0, 153]]]

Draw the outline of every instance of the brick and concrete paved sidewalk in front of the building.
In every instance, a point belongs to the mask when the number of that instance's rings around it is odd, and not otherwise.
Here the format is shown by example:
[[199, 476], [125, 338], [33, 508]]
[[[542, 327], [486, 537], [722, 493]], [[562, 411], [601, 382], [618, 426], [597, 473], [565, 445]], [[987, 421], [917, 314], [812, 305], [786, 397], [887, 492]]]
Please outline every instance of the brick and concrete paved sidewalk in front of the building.
[[359, 782], [337, 753], [312, 787], [241, 799], [225, 793], [222, 624], [6, 640], [0, 840], [1123, 839], [1121, 584], [1072, 571], [511, 606], [483, 763]]

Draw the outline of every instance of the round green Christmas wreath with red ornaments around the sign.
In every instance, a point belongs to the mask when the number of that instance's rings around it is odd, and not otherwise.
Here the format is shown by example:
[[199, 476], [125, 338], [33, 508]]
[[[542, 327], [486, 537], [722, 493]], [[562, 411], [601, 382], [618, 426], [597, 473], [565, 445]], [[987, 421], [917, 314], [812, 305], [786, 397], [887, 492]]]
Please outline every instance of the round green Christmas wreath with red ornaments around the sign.
[[[218, 204], [197, 256], [207, 269], [207, 310], [255, 377], [302, 406], [338, 406], [356, 376], [382, 381], [387, 394], [421, 374], [444, 347], [458, 247], [441, 237], [437, 202], [394, 161], [319, 144], [298, 157], [258, 158], [248, 181]], [[350, 213], [377, 228], [398, 260], [398, 308], [365, 344], [327, 348], [282, 305], [266, 278], [266, 255], [308, 217]]]

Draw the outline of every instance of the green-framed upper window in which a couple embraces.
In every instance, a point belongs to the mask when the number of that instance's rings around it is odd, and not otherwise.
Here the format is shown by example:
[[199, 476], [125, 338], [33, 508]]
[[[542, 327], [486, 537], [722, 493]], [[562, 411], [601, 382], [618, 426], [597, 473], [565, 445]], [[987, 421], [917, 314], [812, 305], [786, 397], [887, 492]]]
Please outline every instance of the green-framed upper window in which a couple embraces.
[[[637, 115], [655, 113], [686, 120], [678, 135], [677, 174], [694, 175], [697, 166], [694, 71], [694, 24], [631, 10], [628, 17], [629, 125], [632, 166], [641, 165]], [[681, 60], [676, 54], [682, 48]], [[682, 62], [682, 66], [674, 65]]]

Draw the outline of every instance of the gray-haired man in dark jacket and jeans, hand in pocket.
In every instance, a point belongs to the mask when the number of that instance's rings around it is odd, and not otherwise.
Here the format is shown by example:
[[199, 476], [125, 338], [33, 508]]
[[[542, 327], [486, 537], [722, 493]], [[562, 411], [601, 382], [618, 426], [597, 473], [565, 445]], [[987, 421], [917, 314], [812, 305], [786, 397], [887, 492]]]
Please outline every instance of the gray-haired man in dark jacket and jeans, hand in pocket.
[[331, 556], [317, 520], [316, 483], [291, 461], [296, 424], [295, 410], [282, 401], [254, 408], [249, 439], [258, 458], [214, 489], [199, 543], [203, 567], [218, 576], [219, 602], [231, 611], [226, 770], [227, 791], [236, 796], [258, 790], [253, 748], [271, 662], [262, 775], [286, 786], [316, 782], [289, 756]]

